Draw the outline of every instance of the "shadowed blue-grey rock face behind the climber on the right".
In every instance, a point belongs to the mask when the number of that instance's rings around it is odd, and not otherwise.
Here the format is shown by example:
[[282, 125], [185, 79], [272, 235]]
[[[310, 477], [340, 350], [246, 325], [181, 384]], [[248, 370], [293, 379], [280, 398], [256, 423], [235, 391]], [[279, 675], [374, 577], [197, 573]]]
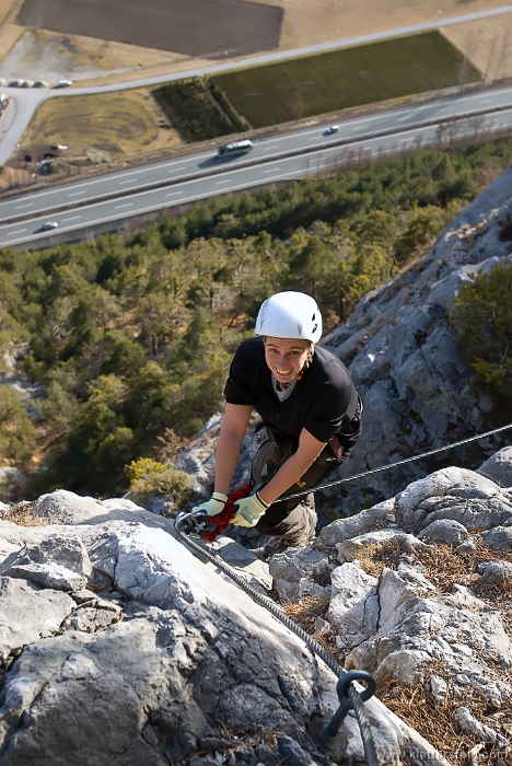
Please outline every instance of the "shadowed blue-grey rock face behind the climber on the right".
[[[323, 341], [350, 369], [364, 403], [363, 436], [339, 477], [359, 474], [490, 430], [491, 403], [469, 391], [470, 372], [462, 362], [449, 313], [461, 285], [510, 257], [500, 230], [512, 214], [512, 169], [474, 200], [438, 239], [419, 264], [369, 293]], [[364, 498], [391, 497], [434, 467], [476, 468], [512, 430], [440, 455], [435, 464], [409, 463], [346, 485], [345, 512]], [[500, 471], [510, 476], [511, 448]], [[482, 473], [494, 477], [493, 468]], [[508, 479], [507, 479], [508, 480]], [[508, 485], [505, 485], [508, 486]]]

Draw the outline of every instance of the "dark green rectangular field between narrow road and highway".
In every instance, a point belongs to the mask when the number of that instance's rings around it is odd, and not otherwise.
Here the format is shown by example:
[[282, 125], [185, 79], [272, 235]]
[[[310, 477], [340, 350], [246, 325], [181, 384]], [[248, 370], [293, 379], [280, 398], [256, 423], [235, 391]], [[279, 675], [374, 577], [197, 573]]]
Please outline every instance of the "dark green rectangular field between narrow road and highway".
[[480, 79], [437, 31], [212, 78], [253, 128]]

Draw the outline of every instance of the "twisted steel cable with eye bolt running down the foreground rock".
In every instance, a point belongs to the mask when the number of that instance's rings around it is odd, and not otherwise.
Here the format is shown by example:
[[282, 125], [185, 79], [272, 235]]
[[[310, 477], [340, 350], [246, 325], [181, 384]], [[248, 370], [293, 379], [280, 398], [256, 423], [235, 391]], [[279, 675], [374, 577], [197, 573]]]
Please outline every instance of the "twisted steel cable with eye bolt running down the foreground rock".
[[[252, 488], [247, 485], [243, 489]], [[238, 490], [240, 491], [240, 490]], [[231, 496], [230, 496], [231, 497]], [[245, 496], [242, 496], [245, 497]], [[237, 498], [240, 499], [240, 497]], [[228, 499], [228, 502], [230, 499]], [[233, 500], [232, 502], [235, 502]], [[226, 503], [228, 504], [228, 503]], [[221, 513], [218, 514], [222, 515]], [[370, 673], [365, 671], [351, 671], [350, 673], [345, 673], [344, 668], [336, 662], [334, 657], [331, 657], [322, 647], [318, 641], [312, 638], [305, 630], [303, 630], [300, 625], [296, 625], [284, 612], [279, 608], [279, 606], [268, 596], [264, 595], [255, 588], [249, 585], [240, 574], [229, 567], [225, 561], [220, 557], [214, 556], [209, 550], [198, 545], [191, 537], [202, 537], [206, 539], [206, 535], [201, 534], [211, 524], [211, 522], [217, 519], [217, 517], [207, 517], [206, 513], [178, 513], [176, 517], [175, 529], [178, 539], [185, 542], [186, 545], [191, 547], [193, 552], [198, 555], [200, 559], [208, 559], [211, 564], [218, 567], [224, 574], [226, 574], [231, 580], [233, 580], [242, 590], [244, 590], [254, 601], [256, 601], [260, 606], [264, 606], [271, 615], [276, 617], [280, 623], [287, 626], [292, 632], [295, 634], [310, 649], [319, 657], [325, 664], [335, 673], [339, 681], [337, 684], [337, 693], [340, 706], [336, 711], [333, 720], [325, 730], [325, 735], [330, 738], [335, 736], [341, 726], [345, 717], [347, 716], [350, 707], [353, 708], [356, 719], [359, 723], [361, 730], [361, 739], [363, 741], [364, 756], [366, 758], [368, 766], [379, 766], [379, 758], [376, 755], [375, 742], [373, 740], [373, 734], [370, 728], [370, 721], [368, 713], [364, 709], [362, 700], [370, 699], [375, 690], [375, 680]], [[222, 522], [224, 523], [224, 522]], [[229, 523], [229, 522], [228, 522]], [[211, 530], [210, 530], [211, 531]], [[216, 535], [217, 536], [217, 535]], [[214, 538], [214, 537], [213, 537]], [[366, 689], [362, 693], [359, 692], [357, 686], [353, 685], [353, 681], [363, 681], [366, 683]], [[342, 683], [341, 683], [342, 682]]]

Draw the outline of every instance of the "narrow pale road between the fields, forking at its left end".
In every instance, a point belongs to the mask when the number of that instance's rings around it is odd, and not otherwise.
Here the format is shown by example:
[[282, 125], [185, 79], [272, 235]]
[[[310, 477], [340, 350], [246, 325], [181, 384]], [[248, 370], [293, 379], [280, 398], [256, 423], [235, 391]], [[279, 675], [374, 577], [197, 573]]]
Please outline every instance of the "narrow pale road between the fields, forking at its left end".
[[486, 11], [464, 13], [456, 16], [443, 18], [442, 14], [440, 14], [439, 19], [430, 22], [423, 22], [422, 24], [414, 24], [409, 26], [396, 27], [393, 30], [385, 30], [383, 32], [375, 32], [368, 35], [359, 35], [358, 37], [348, 37], [346, 39], [331, 40], [329, 43], [322, 43], [304, 48], [294, 48], [292, 50], [281, 50], [277, 53], [261, 54], [258, 56], [251, 56], [247, 58], [237, 59], [235, 61], [224, 61], [222, 63], [217, 63], [208, 67], [190, 69], [184, 72], [175, 72], [172, 74], [163, 74], [160, 77], [146, 78], [141, 80], [133, 80], [131, 82], [115, 83], [110, 85], [96, 85], [93, 88], [69, 88], [63, 90], [4, 88], [2, 89], [3, 92], [5, 92], [15, 101], [16, 116], [8, 134], [0, 141], [0, 165], [3, 165], [3, 163], [7, 162], [12, 151], [14, 150], [16, 143], [21, 140], [23, 134], [25, 132], [26, 126], [32, 119], [32, 116], [37, 106], [39, 106], [39, 104], [42, 104], [47, 98], [73, 94], [84, 95], [90, 93], [107, 93], [112, 91], [129, 90], [132, 88], [156, 85], [162, 82], [172, 82], [174, 80], [183, 80], [185, 78], [190, 77], [216, 74], [219, 72], [230, 71], [232, 69], [240, 69], [242, 67], [245, 68], [255, 65], [270, 63], [274, 61], [283, 61], [289, 58], [296, 58], [299, 56], [322, 53], [325, 50], [337, 50], [339, 48], [346, 48], [352, 45], [361, 45], [363, 43], [375, 43], [381, 39], [388, 39], [391, 37], [397, 37], [399, 35], [410, 35], [417, 32], [437, 30], [440, 26], [450, 26], [452, 24], [461, 24], [462, 22], [478, 21], [480, 19], [488, 19], [491, 16], [498, 16], [511, 12], [512, 5], [501, 5], [498, 8], [488, 9]]

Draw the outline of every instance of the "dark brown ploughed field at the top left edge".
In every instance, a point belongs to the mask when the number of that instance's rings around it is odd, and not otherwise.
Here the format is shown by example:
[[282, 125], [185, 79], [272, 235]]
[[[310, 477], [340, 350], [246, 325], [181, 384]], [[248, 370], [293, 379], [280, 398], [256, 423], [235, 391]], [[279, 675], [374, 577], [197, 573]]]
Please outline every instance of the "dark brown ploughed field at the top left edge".
[[218, 59], [278, 48], [282, 16], [240, 0], [25, 0], [16, 23]]

